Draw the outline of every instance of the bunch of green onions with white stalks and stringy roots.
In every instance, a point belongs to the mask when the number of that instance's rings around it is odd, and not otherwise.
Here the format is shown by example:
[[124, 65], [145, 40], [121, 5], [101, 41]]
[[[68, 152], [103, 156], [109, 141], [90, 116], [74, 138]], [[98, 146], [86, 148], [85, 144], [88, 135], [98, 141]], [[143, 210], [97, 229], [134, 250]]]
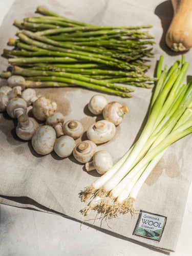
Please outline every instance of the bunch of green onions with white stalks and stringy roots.
[[103, 176], [86, 187], [82, 209], [87, 215], [98, 210], [107, 217], [126, 212], [135, 214], [135, 200], [142, 184], [166, 152], [167, 147], [192, 132], [192, 81], [183, 84], [189, 63], [177, 60], [162, 71], [163, 56], [157, 66], [159, 78], [152, 97], [150, 114], [137, 142]]

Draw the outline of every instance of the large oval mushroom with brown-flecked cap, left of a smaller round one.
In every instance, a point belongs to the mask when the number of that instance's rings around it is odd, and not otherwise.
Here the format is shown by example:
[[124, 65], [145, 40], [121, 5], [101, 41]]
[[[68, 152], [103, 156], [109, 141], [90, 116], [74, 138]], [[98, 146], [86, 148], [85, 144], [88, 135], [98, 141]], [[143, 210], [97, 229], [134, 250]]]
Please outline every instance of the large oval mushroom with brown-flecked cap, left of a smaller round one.
[[56, 132], [52, 126], [42, 125], [38, 127], [32, 137], [32, 146], [40, 155], [47, 155], [53, 151], [56, 140]]

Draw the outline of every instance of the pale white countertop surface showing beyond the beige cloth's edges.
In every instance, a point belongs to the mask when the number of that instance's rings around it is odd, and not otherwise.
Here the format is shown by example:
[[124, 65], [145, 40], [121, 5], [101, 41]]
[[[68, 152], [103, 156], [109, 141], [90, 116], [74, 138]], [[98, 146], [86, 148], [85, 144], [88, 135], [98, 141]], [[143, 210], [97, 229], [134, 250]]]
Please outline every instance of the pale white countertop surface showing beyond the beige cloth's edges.
[[[13, 0], [0, 0], [0, 25]], [[29, 3], [28, 3], [29, 4]], [[173, 256], [192, 255], [192, 185], [176, 252]], [[131, 240], [56, 215], [30, 209], [0, 205], [1, 255], [164, 255]]]

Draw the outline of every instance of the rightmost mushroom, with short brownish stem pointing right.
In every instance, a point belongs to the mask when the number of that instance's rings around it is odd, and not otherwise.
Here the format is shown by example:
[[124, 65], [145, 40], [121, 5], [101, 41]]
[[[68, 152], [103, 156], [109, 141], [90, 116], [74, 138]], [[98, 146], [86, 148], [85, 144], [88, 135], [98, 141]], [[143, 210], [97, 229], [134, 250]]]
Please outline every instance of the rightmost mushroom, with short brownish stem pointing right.
[[122, 122], [125, 113], [129, 112], [127, 105], [121, 105], [119, 102], [109, 102], [103, 109], [103, 118], [115, 125]]

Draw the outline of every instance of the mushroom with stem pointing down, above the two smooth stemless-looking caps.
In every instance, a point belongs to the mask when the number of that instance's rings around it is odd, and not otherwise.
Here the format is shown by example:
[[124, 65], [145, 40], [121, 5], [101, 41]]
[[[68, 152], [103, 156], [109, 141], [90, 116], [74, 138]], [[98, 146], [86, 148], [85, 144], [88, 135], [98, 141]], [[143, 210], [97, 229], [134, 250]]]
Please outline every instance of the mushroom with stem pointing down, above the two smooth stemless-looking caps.
[[57, 137], [60, 137], [64, 135], [62, 131], [62, 124], [64, 120], [64, 116], [61, 113], [56, 112], [46, 119], [46, 124], [52, 126], [56, 131]]

